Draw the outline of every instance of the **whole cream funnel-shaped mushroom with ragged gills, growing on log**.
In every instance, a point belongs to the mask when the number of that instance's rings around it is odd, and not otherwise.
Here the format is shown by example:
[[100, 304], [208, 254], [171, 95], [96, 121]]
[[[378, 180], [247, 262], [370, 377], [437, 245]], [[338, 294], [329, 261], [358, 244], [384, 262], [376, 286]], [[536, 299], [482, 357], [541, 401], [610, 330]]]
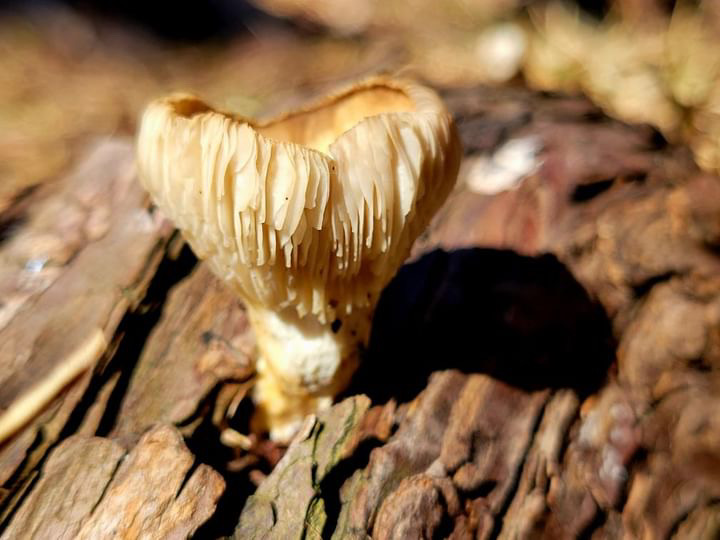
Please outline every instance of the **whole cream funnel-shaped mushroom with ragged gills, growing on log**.
[[141, 181], [244, 302], [257, 418], [273, 439], [348, 383], [380, 292], [461, 153], [438, 95], [403, 79], [373, 77], [266, 122], [184, 94], [148, 106]]

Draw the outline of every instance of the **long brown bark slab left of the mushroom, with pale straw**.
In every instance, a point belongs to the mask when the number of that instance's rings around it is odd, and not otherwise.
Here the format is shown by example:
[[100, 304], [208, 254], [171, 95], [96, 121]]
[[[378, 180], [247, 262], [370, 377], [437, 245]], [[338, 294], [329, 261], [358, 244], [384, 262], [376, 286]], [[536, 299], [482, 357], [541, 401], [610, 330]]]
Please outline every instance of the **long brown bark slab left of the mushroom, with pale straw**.
[[5, 496], [21, 489], [60, 436], [172, 232], [147, 210], [129, 140], [99, 143], [33, 197], [0, 246]]

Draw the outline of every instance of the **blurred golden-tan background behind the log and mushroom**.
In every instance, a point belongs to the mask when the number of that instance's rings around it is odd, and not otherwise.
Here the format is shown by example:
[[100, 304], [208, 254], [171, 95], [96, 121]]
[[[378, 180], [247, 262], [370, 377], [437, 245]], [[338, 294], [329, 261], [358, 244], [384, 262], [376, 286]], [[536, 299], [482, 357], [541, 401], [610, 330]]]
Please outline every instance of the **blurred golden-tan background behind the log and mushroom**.
[[717, 0], [0, 0], [0, 211], [165, 92], [254, 115], [377, 71], [584, 93], [720, 168]]

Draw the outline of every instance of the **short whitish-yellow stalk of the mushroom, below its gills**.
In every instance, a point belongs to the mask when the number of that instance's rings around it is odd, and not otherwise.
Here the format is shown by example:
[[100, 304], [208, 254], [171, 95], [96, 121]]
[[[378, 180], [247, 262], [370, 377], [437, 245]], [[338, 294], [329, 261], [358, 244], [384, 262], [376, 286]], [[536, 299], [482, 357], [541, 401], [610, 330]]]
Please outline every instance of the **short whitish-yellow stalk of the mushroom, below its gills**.
[[370, 334], [370, 310], [355, 310], [330, 323], [248, 308], [255, 330], [258, 380], [253, 399], [256, 427], [289, 441], [308, 414], [332, 404], [349, 382]]

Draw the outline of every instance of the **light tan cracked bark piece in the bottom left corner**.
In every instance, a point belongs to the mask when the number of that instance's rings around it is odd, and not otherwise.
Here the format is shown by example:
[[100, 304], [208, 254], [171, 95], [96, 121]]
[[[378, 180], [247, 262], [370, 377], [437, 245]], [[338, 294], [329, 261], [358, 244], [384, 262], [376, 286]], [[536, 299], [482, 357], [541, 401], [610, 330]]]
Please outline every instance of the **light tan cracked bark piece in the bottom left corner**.
[[217, 472], [193, 462], [166, 425], [146, 432], [129, 453], [108, 439], [69, 437], [3, 538], [186, 538], [225, 487]]

